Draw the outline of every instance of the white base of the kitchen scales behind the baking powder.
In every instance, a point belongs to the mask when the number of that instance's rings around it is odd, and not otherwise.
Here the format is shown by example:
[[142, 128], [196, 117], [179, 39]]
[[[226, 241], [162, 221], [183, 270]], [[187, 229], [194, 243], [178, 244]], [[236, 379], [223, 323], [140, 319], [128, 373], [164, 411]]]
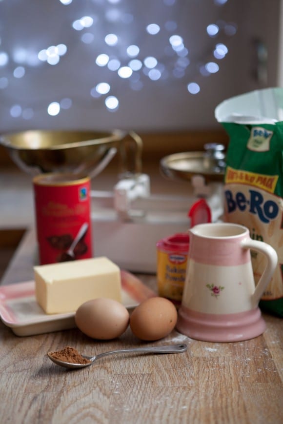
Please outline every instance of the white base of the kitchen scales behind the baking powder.
[[[222, 184], [203, 186], [212, 221], [222, 216]], [[114, 192], [91, 192], [92, 240], [95, 256], [107, 256], [122, 269], [156, 273], [156, 243], [188, 231], [187, 216], [197, 195], [153, 196], [149, 177], [121, 180]], [[196, 189], [195, 189], [196, 192]]]

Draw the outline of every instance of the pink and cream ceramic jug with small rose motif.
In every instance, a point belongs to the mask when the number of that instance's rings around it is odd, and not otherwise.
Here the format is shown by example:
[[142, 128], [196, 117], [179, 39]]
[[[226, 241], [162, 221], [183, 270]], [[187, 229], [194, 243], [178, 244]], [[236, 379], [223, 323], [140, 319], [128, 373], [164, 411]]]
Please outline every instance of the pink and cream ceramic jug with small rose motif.
[[[252, 240], [233, 223], [196, 225], [190, 248], [177, 330], [197, 340], [235, 342], [265, 330], [258, 303], [277, 265], [269, 244]], [[254, 283], [250, 249], [262, 252], [266, 267]]]

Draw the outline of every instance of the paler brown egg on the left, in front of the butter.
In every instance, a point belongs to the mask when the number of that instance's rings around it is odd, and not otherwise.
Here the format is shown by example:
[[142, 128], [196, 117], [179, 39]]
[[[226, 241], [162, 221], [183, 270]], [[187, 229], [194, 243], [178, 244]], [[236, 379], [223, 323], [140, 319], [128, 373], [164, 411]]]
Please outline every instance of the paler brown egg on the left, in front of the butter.
[[83, 303], [75, 314], [79, 329], [89, 337], [110, 340], [121, 336], [129, 324], [129, 312], [113, 299], [94, 299]]

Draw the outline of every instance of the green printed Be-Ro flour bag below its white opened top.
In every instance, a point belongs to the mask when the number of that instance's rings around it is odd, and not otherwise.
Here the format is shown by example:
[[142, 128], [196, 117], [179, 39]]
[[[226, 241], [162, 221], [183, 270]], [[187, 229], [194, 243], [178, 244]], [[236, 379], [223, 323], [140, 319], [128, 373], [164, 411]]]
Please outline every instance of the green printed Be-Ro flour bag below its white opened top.
[[[222, 122], [230, 136], [224, 179], [224, 220], [245, 225], [251, 238], [272, 245], [278, 266], [261, 307], [283, 316], [283, 122]], [[252, 252], [255, 282], [263, 273], [262, 254]]]

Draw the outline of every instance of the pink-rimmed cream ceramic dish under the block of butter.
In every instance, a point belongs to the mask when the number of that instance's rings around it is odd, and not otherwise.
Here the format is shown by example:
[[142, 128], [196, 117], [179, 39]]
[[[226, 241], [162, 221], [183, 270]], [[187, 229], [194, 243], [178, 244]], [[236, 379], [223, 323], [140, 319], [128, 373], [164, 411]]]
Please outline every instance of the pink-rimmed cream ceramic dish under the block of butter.
[[[156, 296], [133, 274], [121, 271], [122, 304], [130, 309]], [[17, 336], [31, 336], [76, 327], [75, 313], [45, 314], [36, 302], [35, 282], [0, 286], [0, 319]]]

